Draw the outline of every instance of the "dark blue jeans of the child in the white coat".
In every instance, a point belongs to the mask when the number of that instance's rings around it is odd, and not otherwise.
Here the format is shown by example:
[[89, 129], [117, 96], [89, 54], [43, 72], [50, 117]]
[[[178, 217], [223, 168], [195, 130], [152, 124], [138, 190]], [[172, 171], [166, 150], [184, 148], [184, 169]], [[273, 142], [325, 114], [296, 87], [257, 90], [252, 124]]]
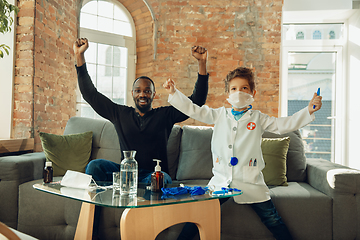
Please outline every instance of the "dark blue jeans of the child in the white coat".
[[[220, 198], [220, 204], [226, 202], [229, 198]], [[256, 214], [260, 217], [265, 226], [272, 232], [277, 240], [292, 240], [290, 232], [281, 220], [275, 209], [273, 202], [270, 200], [261, 203], [249, 204]], [[194, 223], [186, 223], [182, 229], [178, 240], [193, 239], [198, 233], [198, 228]]]

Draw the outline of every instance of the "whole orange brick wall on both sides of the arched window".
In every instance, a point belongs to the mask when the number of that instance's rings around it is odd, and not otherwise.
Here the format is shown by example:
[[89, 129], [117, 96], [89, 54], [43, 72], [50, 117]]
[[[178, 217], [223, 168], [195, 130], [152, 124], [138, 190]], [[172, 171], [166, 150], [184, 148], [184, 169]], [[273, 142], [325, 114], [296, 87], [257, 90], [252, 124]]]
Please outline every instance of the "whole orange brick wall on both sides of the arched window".
[[[226, 104], [222, 80], [228, 71], [247, 66], [256, 74], [254, 108], [277, 116], [282, 0], [119, 2], [136, 26], [136, 76], [155, 81], [154, 107], [167, 104], [162, 88], [167, 78], [191, 94], [197, 62], [190, 48], [201, 45], [209, 51], [209, 106]], [[18, 1], [13, 137], [34, 136], [38, 151], [39, 131], [62, 134], [75, 115], [72, 43], [80, 5], [73, 0]], [[189, 119], [184, 124], [202, 123]]]

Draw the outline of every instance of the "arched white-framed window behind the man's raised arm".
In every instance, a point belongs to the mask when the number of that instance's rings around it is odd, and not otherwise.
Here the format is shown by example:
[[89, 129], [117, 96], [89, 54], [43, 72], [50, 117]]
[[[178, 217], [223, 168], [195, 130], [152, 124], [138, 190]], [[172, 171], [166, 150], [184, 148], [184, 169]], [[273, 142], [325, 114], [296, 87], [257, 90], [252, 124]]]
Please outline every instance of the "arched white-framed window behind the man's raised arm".
[[[130, 13], [111, 0], [84, 1], [80, 11], [80, 37], [89, 40], [85, 60], [99, 92], [119, 104], [135, 79], [135, 25]], [[130, 84], [129, 84], [130, 83]], [[78, 91], [77, 115], [101, 118]]]

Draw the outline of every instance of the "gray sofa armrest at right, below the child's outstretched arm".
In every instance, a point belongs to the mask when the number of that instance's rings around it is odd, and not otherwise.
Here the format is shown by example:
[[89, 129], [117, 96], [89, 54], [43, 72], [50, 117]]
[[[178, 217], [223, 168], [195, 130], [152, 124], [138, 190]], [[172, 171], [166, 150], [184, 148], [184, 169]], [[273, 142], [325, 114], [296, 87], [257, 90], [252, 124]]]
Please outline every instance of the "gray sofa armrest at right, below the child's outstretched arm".
[[333, 199], [333, 239], [360, 237], [360, 171], [307, 159], [308, 183]]

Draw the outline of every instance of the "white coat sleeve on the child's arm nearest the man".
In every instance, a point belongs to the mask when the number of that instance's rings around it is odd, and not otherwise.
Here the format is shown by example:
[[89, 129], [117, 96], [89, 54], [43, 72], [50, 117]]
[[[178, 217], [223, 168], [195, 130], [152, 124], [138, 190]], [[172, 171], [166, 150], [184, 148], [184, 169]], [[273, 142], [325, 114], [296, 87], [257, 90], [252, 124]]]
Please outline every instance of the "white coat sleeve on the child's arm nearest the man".
[[168, 102], [185, 115], [207, 124], [214, 124], [220, 113], [220, 109], [212, 109], [206, 105], [199, 107], [177, 89], [174, 94], [169, 95]]

